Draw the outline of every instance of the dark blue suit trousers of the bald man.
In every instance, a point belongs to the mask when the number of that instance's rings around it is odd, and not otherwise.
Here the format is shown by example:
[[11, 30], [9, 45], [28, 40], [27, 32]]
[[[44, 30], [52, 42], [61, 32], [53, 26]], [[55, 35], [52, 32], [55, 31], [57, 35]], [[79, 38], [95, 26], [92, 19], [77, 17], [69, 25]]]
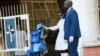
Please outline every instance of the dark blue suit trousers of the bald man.
[[68, 41], [69, 56], [79, 56], [77, 51], [78, 42], [79, 42], [78, 37], [74, 37], [74, 41], [72, 43]]

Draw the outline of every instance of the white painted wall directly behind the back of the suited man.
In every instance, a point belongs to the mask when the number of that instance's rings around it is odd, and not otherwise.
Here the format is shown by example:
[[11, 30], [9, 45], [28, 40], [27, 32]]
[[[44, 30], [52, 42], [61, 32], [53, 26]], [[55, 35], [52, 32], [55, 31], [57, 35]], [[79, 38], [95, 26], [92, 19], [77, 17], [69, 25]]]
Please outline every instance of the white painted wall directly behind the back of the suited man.
[[97, 40], [98, 19], [96, 17], [96, 0], [72, 0], [79, 15], [79, 22], [82, 37], [79, 42], [80, 56], [83, 55], [82, 47], [84, 43]]

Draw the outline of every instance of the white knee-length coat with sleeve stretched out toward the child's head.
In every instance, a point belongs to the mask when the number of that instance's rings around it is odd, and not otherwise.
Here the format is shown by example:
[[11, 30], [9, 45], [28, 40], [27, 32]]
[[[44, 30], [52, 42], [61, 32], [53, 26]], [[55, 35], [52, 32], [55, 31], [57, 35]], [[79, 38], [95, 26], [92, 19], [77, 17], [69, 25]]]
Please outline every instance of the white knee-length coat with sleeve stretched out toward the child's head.
[[59, 29], [59, 33], [56, 39], [55, 50], [66, 50], [68, 49], [68, 43], [64, 40], [64, 22], [65, 19], [60, 19], [57, 25], [49, 27], [50, 30]]

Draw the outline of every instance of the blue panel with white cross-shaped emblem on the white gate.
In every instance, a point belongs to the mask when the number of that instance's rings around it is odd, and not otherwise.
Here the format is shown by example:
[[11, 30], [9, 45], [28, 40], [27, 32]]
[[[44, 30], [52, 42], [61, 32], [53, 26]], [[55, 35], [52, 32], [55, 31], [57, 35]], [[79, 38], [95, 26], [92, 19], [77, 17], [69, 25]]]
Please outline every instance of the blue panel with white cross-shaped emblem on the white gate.
[[5, 19], [4, 24], [6, 49], [16, 48], [16, 20]]

